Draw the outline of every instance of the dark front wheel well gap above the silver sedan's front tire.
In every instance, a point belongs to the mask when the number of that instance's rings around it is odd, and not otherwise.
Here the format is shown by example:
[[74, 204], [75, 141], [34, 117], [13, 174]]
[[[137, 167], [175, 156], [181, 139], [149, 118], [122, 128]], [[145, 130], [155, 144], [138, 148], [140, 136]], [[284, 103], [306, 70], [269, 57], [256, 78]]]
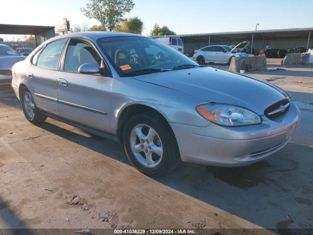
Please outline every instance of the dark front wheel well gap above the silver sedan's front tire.
[[[154, 112], [159, 117], [164, 118], [164, 116], [161, 113], [159, 113], [154, 108], [151, 108], [147, 105], [134, 104], [134, 105], [128, 106], [122, 111], [117, 122], [117, 138], [120, 143], [123, 142], [123, 133], [124, 133], [124, 128], [125, 128], [125, 123], [127, 122], [127, 120], [129, 120], [135, 114], [144, 113], [144, 112]], [[167, 122], [166, 118], [164, 118], [164, 120]]]

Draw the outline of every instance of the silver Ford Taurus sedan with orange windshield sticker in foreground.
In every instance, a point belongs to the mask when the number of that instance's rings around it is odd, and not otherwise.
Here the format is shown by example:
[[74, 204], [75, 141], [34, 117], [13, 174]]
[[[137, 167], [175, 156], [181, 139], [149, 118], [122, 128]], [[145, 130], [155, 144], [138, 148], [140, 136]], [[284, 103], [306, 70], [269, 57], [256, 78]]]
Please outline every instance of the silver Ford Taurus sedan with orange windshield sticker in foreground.
[[242, 166], [283, 148], [299, 110], [282, 89], [202, 67], [154, 39], [84, 32], [55, 37], [13, 69], [32, 123], [55, 118], [123, 143], [141, 172], [184, 162]]

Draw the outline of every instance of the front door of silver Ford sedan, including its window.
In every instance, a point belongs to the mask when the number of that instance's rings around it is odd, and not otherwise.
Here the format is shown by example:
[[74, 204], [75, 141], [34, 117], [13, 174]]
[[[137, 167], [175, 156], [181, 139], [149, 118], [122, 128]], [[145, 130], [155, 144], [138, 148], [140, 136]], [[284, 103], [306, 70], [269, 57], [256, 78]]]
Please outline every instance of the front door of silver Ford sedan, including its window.
[[[98, 50], [82, 39], [71, 39], [57, 74], [60, 116], [110, 132], [111, 72]], [[97, 64], [103, 74], [82, 74], [78, 68]]]

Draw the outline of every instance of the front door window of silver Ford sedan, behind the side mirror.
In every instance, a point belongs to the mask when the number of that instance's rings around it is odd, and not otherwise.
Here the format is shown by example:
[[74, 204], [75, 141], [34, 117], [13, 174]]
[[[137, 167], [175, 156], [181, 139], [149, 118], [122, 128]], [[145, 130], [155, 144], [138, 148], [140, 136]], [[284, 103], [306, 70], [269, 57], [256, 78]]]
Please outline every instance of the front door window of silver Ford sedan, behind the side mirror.
[[78, 68], [86, 63], [94, 63], [101, 67], [100, 55], [87, 43], [71, 40], [65, 55], [64, 71], [78, 72]]

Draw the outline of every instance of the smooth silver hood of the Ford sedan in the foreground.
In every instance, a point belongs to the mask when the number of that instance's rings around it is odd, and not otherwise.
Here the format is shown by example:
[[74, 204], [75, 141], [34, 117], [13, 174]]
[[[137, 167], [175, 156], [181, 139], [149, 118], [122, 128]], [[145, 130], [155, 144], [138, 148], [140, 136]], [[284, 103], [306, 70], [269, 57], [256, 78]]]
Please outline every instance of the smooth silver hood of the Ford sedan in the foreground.
[[192, 95], [204, 102], [245, 107], [259, 115], [270, 104], [287, 97], [262, 80], [211, 67], [150, 73], [134, 79]]

